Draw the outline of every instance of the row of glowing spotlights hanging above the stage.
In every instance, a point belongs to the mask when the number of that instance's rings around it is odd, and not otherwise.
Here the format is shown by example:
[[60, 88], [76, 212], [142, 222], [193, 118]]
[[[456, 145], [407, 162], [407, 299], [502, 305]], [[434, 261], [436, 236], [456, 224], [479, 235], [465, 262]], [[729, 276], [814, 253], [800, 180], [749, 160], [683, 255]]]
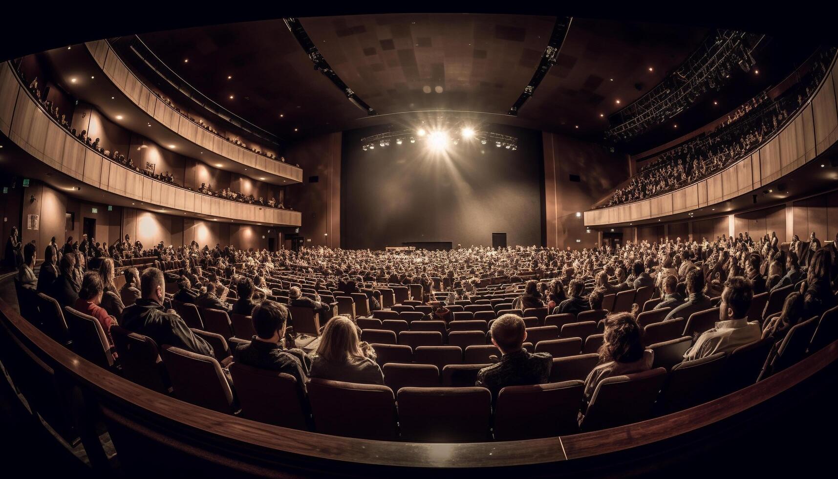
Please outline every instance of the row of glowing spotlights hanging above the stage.
[[417, 140], [435, 151], [444, 150], [450, 145], [469, 142], [493, 143], [496, 148], [506, 148], [511, 151], [518, 149], [518, 138], [475, 128], [472, 125], [462, 124], [462, 122], [447, 124], [440, 128], [419, 127], [379, 133], [361, 138], [361, 149], [368, 151], [375, 149], [376, 146], [386, 148], [391, 145], [391, 142], [396, 143], [396, 145], [401, 145], [406, 141], [415, 144]]

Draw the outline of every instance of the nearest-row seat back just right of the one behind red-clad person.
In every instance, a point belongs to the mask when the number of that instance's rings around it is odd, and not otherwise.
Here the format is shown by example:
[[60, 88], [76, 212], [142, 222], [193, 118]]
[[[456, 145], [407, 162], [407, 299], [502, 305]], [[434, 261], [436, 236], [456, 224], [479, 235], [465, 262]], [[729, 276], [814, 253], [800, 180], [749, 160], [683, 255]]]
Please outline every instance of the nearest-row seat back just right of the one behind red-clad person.
[[111, 325], [111, 337], [119, 354], [122, 375], [144, 388], [168, 394], [171, 383], [157, 343], [118, 325]]

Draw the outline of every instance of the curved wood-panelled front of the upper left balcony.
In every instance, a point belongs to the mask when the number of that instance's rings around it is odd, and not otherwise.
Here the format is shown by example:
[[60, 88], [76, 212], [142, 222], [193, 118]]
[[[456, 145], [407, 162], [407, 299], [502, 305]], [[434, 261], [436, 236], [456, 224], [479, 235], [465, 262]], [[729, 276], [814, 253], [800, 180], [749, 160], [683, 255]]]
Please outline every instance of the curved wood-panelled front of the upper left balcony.
[[[163, 102], [128, 69], [106, 40], [88, 42], [85, 44], [85, 48], [95, 60], [98, 68], [116, 86], [116, 89], [132, 102], [134, 107], [145, 112], [153, 121], [158, 122], [164, 128], [168, 128], [168, 130], [177, 134], [179, 138], [194, 145], [194, 148], [191, 149], [196, 150], [189, 152], [188, 148], [181, 148], [178, 150], [181, 153], [192, 153], [193, 158], [200, 159], [208, 164], [215, 163], [215, 159], [207, 158], [208, 156], [218, 155], [217, 159], [235, 162], [240, 166], [239, 169], [243, 169], [242, 174], [251, 176], [255, 180], [265, 178], [265, 175], [261, 172], [274, 175], [266, 178], [266, 181], [276, 185], [288, 185], [288, 180], [290, 182], [303, 181], [303, 169], [293, 164], [284, 163], [279, 159], [270, 159], [263, 154], [256, 154], [250, 149], [242, 148], [235, 143], [230, 143], [226, 138], [210, 133], [199, 126], [198, 123], [190, 120], [184, 113], [178, 112], [173, 106]], [[197, 150], [208, 152], [210, 155], [199, 154]]]

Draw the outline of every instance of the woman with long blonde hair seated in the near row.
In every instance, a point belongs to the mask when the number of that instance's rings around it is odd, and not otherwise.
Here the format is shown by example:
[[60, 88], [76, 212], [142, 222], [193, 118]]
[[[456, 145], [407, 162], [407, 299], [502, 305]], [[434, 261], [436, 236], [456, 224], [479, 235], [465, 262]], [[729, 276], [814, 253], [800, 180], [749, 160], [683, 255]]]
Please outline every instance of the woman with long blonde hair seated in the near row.
[[346, 316], [334, 316], [323, 328], [311, 377], [346, 383], [384, 384], [384, 373], [372, 348], [358, 340], [358, 326]]

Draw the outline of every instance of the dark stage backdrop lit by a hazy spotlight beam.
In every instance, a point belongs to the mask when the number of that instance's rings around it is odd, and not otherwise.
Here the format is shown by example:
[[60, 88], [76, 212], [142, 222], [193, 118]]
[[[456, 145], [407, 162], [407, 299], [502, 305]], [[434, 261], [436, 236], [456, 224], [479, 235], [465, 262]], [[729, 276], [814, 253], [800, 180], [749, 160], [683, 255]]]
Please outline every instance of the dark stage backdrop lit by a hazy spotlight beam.
[[445, 154], [409, 141], [363, 151], [361, 138], [386, 130], [344, 132], [341, 243], [383, 249], [403, 242], [492, 245], [544, 244], [544, 155], [541, 132], [504, 125], [486, 128], [519, 138], [518, 149], [461, 141]]

